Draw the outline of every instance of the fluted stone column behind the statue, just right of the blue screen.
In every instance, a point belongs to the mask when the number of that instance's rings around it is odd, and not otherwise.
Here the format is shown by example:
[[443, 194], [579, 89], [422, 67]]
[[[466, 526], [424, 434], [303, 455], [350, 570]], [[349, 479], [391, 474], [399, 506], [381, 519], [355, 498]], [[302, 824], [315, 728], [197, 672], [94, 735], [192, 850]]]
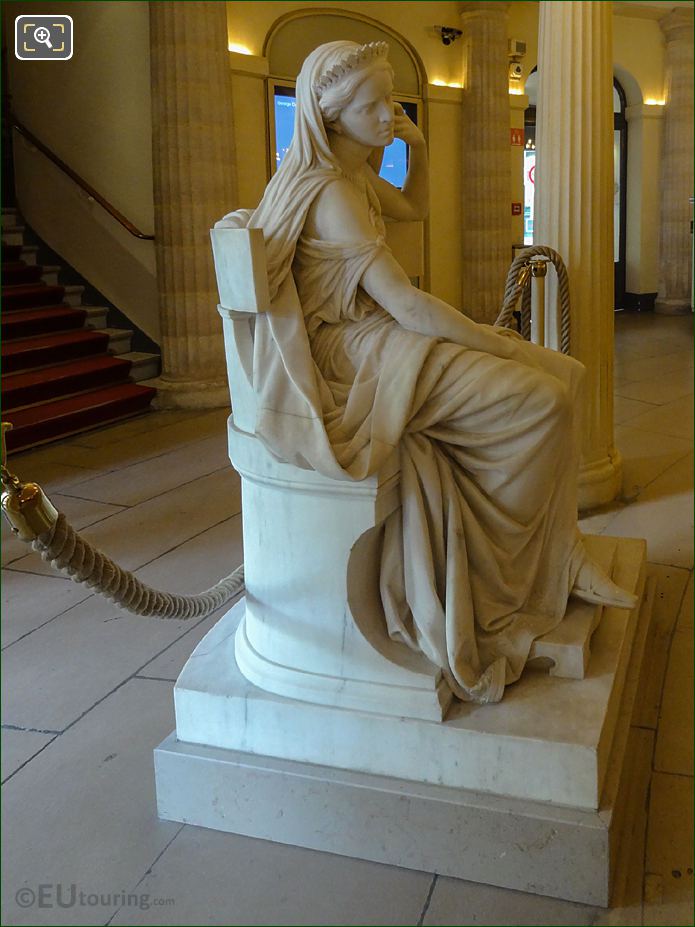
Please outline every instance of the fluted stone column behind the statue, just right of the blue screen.
[[511, 261], [508, 3], [464, 3], [461, 305], [494, 322]]

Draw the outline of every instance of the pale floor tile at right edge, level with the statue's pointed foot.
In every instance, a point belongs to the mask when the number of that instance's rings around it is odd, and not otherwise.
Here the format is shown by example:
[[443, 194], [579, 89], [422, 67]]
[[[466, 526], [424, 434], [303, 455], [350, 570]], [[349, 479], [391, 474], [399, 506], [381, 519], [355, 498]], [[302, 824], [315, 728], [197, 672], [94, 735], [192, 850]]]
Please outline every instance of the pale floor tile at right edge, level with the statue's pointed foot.
[[[658, 437], [655, 438], [658, 440]], [[604, 534], [646, 538], [648, 559], [693, 566], [693, 458], [681, 458], [625, 506]]]

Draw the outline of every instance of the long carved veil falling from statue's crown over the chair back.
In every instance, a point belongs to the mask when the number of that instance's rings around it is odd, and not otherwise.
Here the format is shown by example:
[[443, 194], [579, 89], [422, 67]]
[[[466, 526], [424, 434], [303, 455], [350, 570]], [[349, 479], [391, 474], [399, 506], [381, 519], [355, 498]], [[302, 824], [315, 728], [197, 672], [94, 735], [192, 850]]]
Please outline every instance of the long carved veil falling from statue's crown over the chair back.
[[312, 202], [325, 184], [343, 176], [328, 145], [314, 87], [322, 78], [331, 81], [331, 74], [337, 84], [344, 71], [354, 71], [359, 79], [359, 72], [369, 69], [369, 58], [379, 55], [384, 61], [385, 51], [382, 44], [377, 49], [330, 42], [306, 58], [297, 78], [292, 142], [260, 205], [245, 220], [248, 228], [263, 230], [271, 296], [270, 311], [259, 313], [254, 322], [255, 434], [281, 460], [332, 479], [367, 476], [369, 445], [345, 468], [338, 462], [326, 428], [339, 423], [339, 410], [311, 355], [292, 262]]

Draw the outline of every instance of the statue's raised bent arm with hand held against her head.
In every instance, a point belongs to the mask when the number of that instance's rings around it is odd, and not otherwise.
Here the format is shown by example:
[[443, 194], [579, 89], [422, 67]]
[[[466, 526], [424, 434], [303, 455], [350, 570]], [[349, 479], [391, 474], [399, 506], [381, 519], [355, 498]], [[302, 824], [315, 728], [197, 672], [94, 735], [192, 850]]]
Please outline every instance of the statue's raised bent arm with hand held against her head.
[[394, 136], [403, 139], [410, 149], [408, 173], [403, 189], [399, 190], [387, 180], [379, 177], [374, 169], [376, 163], [376, 159], [373, 160], [374, 155], [370, 156], [367, 163], [367, 174], [385, 216], [399, 222], [426, 219], [430, 201], [427, 145], [422, 132], [405, 115], [403, 107], [399, 103], [395, 103], [394, 106], [396, 108]]

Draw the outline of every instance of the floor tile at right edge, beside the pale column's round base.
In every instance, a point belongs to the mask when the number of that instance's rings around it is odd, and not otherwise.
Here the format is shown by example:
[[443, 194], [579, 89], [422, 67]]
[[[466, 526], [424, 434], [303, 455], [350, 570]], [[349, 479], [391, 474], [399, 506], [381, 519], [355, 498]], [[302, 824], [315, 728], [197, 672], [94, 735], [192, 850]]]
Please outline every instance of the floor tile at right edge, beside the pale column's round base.
[[623, 498], [632, 499], [645, 486], [692, 451], [692, 443], [670, 435], [655, 435], [631, 425], [618, 425], [615, 444], [623, 458]]

